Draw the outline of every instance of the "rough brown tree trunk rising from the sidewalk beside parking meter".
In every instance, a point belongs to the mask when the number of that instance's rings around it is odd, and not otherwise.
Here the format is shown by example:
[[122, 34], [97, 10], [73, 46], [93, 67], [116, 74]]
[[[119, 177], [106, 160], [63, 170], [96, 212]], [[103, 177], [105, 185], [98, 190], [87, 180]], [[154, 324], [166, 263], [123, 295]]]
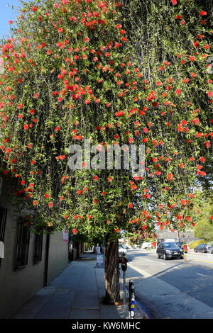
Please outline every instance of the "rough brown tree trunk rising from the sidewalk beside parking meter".
[[119, 283], [119, 242], [107, 242], [105, 249], [105, 288], [106, 295], [103, 300], [107, 304], [120, 301]]

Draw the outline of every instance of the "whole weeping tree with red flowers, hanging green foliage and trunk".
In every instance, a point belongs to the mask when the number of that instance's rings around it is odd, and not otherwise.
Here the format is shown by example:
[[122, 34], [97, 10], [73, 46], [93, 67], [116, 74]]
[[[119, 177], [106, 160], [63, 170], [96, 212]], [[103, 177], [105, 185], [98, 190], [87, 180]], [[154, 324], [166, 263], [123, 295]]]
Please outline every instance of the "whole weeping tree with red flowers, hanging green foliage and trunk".
[[[32, 228], [104, 237], [106, 301], [114, 303], [120, 232], [154, 242], [156, 225], [193, 227], [197, 182], [209, 184], [209, 4], [22, 5], [1, 41], [1, 168], [18, 181], [16, 205], [33, 208]], [[85, 142], [95, 145], [89, 162]], [[124, 155], [136, 147], [138, 156], [140, 145], [146, 155], [133, 173]], [[110, 147], [124, 148], [111, 167]]]

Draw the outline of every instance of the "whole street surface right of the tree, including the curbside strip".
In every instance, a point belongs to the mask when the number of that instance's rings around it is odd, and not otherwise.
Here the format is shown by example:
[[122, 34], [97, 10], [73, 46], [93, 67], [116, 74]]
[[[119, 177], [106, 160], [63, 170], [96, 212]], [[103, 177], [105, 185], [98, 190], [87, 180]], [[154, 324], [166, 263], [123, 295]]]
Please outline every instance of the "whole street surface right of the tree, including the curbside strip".
[[[156, 317], [213, 318], [213, 254], [187, 252], [185, 262], [183, 259], [158, 259], [155, 249], [129, 249], [128, 259], [127, 277], [133, 278], [138, 299]], [[200, 302], [196, 303], [191, 315], [189, 300]]]

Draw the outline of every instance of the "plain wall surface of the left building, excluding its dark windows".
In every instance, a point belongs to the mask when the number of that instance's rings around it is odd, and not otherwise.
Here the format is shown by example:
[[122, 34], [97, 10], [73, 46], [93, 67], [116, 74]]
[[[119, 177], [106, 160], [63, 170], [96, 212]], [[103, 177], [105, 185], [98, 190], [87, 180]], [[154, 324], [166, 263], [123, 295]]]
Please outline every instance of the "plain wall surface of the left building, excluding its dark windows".
[[[4, 233], [4, 258], [0, 265], [0, 318], [9, 318], [24, 303], [43, 288], [45, 283], [45, 252], [47, 235], [43, 235], [42, 260], [33, 264], [35, 234], [31, 232], [28, 263], [21, 269], [15, 270], [16, 242], [18, 236], [18, 213], [11, 204], [9, 193], [16, 184], [3, 176], [0, 194], [0, 208], [7, 209], [6, 228]], [[68, 242], [63, 239], [62, 232], [50, 235], [48, 282], [52, 281], [68, 264]]]

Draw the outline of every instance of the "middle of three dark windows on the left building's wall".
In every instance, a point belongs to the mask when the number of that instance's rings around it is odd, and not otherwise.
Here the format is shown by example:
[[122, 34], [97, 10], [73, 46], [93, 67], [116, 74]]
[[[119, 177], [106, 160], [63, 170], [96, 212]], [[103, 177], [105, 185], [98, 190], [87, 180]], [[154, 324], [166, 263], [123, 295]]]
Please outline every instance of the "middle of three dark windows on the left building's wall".
[[30, 233], [31, 227], [29, 223], [24, 218], [20, 218], [18, 221], [15, 269], [20, 269], [28, 264]]

